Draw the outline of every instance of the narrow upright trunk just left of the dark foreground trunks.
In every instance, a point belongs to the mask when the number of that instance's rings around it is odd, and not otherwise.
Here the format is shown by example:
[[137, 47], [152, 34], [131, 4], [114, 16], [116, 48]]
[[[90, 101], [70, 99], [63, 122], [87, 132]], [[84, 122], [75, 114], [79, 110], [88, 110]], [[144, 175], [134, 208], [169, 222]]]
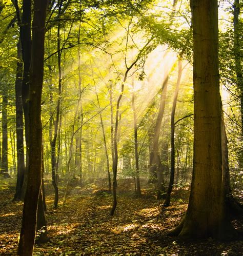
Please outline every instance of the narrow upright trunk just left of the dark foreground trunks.
[[17, 68], [15, 80], [15, 109], [16, 109], [16, 139], [17, 139], [17, 183], [14, 200], [21, 200], [21, 191], [25, 173], [25, 154], [24, 154], [24, 122], [22, 104], [22, 73], [23, 64], [21, 62], [21, 42], [17, 43]]

